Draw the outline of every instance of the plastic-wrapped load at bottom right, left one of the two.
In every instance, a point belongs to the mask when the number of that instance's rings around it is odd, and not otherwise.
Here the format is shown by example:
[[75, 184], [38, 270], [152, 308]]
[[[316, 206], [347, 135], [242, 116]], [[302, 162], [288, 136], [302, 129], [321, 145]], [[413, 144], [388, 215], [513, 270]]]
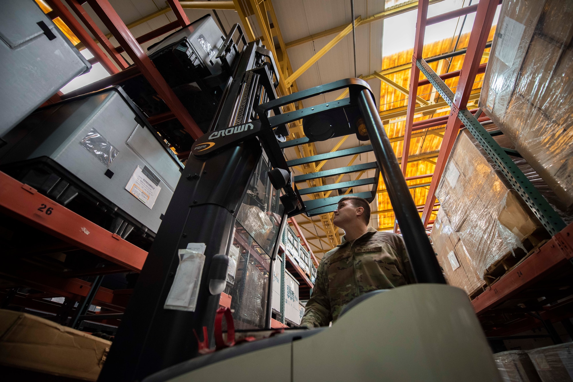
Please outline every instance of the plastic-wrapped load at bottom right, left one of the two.
[[531, 359], [523, 350], [495, 353], [493, 359], [504, 382], [541, 382]]

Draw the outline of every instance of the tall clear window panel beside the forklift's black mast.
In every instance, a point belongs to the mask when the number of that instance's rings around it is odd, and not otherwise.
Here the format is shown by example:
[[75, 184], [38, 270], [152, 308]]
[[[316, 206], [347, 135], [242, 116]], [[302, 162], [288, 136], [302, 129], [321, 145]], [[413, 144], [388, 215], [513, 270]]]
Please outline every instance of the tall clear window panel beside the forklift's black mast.
[[229, 247], [225, 293], [231, 296], [236, 329], [264, 328], [266, 323], [270, 256], [284, 211], [268, 171], [269, 166], [261, 158], [237, 213]]

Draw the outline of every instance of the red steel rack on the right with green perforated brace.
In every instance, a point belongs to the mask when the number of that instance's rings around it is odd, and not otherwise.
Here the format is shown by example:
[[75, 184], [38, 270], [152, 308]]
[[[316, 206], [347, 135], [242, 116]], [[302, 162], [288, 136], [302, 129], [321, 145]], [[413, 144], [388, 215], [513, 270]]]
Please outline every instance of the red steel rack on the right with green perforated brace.
[[[564, 327], [573, 336], [573, 328], [568, 319], [573, 316], [571, 299], [563, 299], [567, 291], [568, 280], [573, 277], [573, 224], [566, 226], [563, 220], [529, 182], [527, 177], [513, 163], [509, 156], [519, 156], [515, 150], [502, 148], [493, 139], [501, 134], [499, 130], [488, 132], [481, 125], [481, 110], [475, 113], [467, 109], [469, 95], [476, 74], [480, 72], [480, 60], [486, 47], [486, 40], [492, 25], [497, 0], [480, 1], [477, 5], [464, 7], [436, 17], [427, 18], [428, 1], [418, 3], [417, 27], [415, 33], [414, 53], [410, 74], [410, 93], [416, 94], [418, 86], [428, 82], [438, 91], [450, 106], [444, 140], [436, 161], [429, 194], [422, 212], [422, 221], [427, 227], [430, 224], [431, 210], [434, 208], [435, 191], [444, 173], [449, 154], [460, 128], [466, 128], [485, 149], [486, 153], [499, 166], [503, 175], [516, 189], [532, 212], [551, 234], [551, 240], [536, 249], [534, 253], [519, 262], [512, 269], [488, 286], [473, 301], [473, 307], [480, 318], [486, 335], [492, 337], [507, 336], [527, 331], [531, 328], [545, 326], [555, 343], [560, 343], [559, 336], [551, 323], [562, 321]], [[456, 93], [444, 83], [446, 75], [438, 75], [422, 58], [423, 39], [426, 26], [476, 12], [476, 18], [470, 34], [468, 49], [461, 69]], [[419, 81], [419, 74], [426, 79]], [[413, 131], [415, 97], [408, 100], [406, 133], [402, 158], [409, 154], [410, 137]], [[480, 120], [478, 120], [480, 118]], [[402, 164], [406, 164], [402, 160]], [[406, 165], [402, 165], [406, 173]], [[548, 306], [542, 301], [551, 296], [552, 301], [559, 301]], [[527, 303], [527, 307], [525, 305]]]

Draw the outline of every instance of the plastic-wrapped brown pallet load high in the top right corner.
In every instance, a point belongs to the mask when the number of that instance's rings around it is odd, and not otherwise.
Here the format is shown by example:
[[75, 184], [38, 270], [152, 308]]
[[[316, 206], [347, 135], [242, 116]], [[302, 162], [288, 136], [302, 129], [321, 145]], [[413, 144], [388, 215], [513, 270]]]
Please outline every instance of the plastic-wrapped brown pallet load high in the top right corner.
[[504, 1], [480, 107], [573, 208], [573, 0]]

